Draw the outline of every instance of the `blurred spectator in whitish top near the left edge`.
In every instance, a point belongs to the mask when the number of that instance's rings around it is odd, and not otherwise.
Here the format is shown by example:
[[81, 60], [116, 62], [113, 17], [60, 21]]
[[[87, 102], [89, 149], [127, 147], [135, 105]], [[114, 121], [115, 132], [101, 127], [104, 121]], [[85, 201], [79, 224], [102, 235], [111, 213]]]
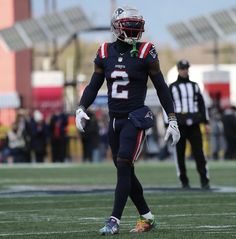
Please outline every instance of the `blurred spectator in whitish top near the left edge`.
[[6, 145], [14, 163], [26, 162], [26, 139], [19, 122], [15, 122], [7, 133]]

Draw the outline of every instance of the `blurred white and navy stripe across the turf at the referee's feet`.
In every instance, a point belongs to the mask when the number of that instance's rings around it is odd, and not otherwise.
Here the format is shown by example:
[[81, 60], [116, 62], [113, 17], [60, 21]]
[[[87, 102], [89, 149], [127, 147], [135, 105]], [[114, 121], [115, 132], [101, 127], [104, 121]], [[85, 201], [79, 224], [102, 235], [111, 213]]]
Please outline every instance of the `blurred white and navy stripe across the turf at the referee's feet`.
[[[215, 197], [214, 193], [236, 193], [236, 187], [220, 187], [220, 186], [213, 186], [211, 190], [201, 190], [200, 188], [192, 188], [188, 191], [184, 191], [178, 187], [152, 187], [152, 186], [145, 186], [144, 191], [146, 193], [161, 193], [161, 192], [172, 192], [172, 195], [165, 195], [166, 198], [174, 198], [176, 197], [176, 193], [194, 193], [198, 192], [201, 194], [205, 194], [204, 197], [211, 198]], [[95, 195], [95, 194], [111, 194], [114, 193], [114, 186], [112, 185], [14, 185], [9, 186], [6, 189], [0, 190], [0, 195], [4, 197], [16, 197], [16, 196], [28, 196], [28, 197], [35, 197], [35, 196], [64, 196], [64, 195]], [[210, 195], [210, 193], [213, 193]], [[202, 197], [202, 195], [179, 195], [182, 198], [197, 198]], [[86, 199], [85, 199], [86, 200]]]

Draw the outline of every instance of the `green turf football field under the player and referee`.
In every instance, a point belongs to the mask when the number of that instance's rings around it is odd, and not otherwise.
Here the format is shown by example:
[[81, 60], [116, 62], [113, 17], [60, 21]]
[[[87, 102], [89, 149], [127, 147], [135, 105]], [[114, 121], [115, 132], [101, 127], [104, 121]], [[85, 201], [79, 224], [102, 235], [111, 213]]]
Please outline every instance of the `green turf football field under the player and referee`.
[[[210, 191], [198, 189], [194, 163], [187, 167], [194, 189], [184, 191], [178, 189], [173, 162], [137, 163], [159, 226], [144, 234], [129, 233], [138, 215], [128, 201], [120, 234], [114, 237], [236, 238], [236, 162], [209, 163]], [[0, 238], [103, 238], [98, 229], [111, 213], [115, 174], [112, 163], [1, 165]], [[111, 191], [80, 192], [87, 188]]]

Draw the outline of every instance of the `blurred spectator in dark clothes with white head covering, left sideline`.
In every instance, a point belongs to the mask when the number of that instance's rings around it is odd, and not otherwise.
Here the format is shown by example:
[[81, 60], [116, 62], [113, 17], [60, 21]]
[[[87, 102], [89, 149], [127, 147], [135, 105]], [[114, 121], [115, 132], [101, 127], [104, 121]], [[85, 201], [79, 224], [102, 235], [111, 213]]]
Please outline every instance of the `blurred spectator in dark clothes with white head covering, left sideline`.
[[46, 156], [48, 131], [43, 114], [35, 110], [31, 119], [31, 148], [37, 163], [43, 163]]

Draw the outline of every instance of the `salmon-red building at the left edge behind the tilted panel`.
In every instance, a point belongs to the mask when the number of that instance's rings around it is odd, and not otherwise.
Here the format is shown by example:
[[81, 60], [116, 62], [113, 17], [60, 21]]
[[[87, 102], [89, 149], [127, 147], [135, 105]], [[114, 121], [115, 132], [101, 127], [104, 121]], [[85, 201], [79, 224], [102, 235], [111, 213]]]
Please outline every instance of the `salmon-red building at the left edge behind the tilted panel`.
[[[30, 0], [0, 0], [0, 29], [30, 18]], [[10, 125], [18, 106], [31, 107], [31, 50], [10, 52], [0, 42], [0, 122]]]

